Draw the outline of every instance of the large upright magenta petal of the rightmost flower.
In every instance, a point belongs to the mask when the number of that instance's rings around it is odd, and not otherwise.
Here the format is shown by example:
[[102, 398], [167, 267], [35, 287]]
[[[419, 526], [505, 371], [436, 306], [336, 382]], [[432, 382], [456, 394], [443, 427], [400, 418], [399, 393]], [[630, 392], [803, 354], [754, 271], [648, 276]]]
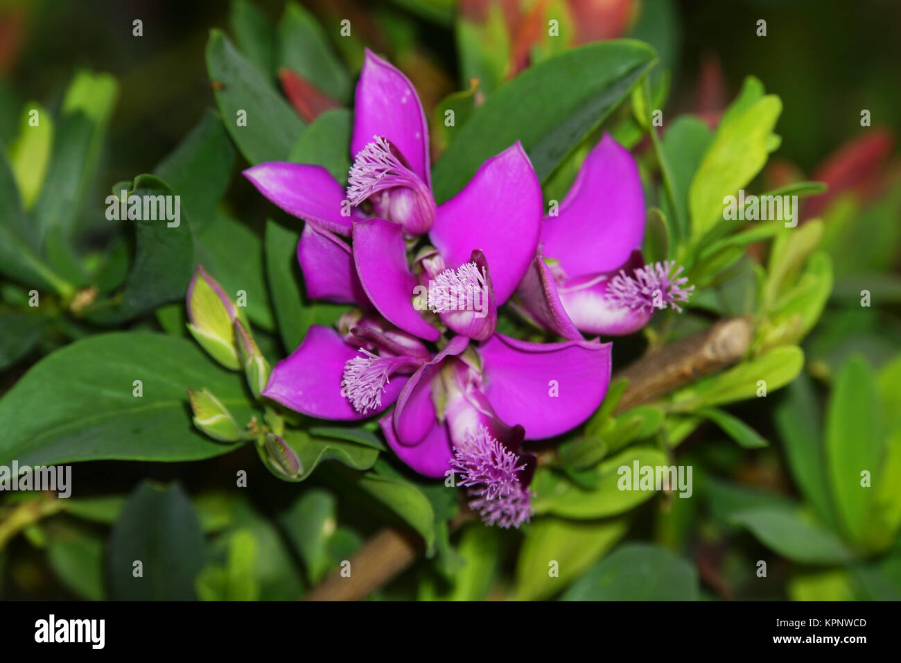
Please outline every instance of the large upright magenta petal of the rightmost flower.
[[632, 154], [609, 134], [588, 153], [560, 204], [542, 226], [544, 255], [569, 276], [619, 267], [644, 237], [644, 194]]

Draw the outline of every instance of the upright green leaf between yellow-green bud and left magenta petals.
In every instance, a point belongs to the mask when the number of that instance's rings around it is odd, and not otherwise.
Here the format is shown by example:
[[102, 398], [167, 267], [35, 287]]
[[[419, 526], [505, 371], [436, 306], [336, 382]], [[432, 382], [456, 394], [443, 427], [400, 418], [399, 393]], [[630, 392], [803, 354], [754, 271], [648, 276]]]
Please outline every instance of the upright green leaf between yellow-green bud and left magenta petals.
[[303, 290], [303, 274], [297, 264], [300, 232], [267, 221], [264, 247], [266, 273], [278, 332], [288, 352], [304, 340], [311, 325], [331, 325], [347, 306], [331, 302], [310, 302]]

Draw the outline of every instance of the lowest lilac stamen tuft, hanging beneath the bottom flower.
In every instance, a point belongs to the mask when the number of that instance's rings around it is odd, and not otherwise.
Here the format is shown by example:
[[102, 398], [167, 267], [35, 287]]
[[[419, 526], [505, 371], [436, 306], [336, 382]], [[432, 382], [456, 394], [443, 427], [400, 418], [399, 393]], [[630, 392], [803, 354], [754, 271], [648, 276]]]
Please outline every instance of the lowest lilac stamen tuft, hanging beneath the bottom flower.
[[525, 464], [479, 426], [469, 429], [454, 447], [451, 466], [460, 473], [458, 485], [469, 488], [469, 508], [487, 525], [518, 528], [532, 517], [531, 493], [519, 481]]

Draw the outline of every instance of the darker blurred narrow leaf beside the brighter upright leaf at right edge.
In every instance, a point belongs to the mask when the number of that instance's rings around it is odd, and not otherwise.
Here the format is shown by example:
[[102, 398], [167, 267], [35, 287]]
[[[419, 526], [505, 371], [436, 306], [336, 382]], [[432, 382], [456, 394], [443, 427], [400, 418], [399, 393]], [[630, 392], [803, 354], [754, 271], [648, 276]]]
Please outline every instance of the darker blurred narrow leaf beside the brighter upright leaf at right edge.
[[833, 527], [835, 516], [826, 483], [822, 415], [813, 384], [804, 374], [798, 375], [786, 392], [773, 416], [785, 445], [791, 474], [816, 515]]

